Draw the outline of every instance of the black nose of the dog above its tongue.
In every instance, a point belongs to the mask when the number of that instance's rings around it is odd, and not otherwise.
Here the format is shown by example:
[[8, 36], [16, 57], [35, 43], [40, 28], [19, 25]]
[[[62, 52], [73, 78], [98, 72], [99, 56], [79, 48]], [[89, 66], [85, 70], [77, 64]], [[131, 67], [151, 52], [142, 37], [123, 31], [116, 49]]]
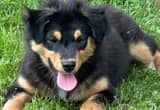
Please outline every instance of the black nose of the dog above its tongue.
[[66, 72], [71, 72], [71, 71], [74, 70], [75, 61], [63, 61], [63, 62], [62, 62], [62, 65], [63, 65], [63, 69], [64, 69]]

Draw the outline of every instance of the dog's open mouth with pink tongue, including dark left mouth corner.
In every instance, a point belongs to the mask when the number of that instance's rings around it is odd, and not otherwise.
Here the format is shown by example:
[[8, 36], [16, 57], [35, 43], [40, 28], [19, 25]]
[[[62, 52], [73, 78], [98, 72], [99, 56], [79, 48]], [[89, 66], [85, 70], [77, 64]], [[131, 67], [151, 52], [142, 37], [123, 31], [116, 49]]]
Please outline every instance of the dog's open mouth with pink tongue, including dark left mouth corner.
[[[50, 59], [48, 59], [49, 66], [53, 69], [53, 64]], [[64, 91], [72, 91], [76, 88], [78, 80], [74, 73], [66, 73], [56, 70], [56, 83], [57, 86]]]

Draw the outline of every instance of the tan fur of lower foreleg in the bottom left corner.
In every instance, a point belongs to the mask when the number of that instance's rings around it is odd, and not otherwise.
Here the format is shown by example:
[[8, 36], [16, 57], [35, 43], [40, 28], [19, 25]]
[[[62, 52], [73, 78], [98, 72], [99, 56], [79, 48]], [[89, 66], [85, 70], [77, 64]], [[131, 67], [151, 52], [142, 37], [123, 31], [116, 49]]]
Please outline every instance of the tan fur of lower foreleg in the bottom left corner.
[[17, 94], [5, 103], [2, 110], [22, 110], [25, 103], [29, 101], [31, 98], [32, 96], [26, 93]]

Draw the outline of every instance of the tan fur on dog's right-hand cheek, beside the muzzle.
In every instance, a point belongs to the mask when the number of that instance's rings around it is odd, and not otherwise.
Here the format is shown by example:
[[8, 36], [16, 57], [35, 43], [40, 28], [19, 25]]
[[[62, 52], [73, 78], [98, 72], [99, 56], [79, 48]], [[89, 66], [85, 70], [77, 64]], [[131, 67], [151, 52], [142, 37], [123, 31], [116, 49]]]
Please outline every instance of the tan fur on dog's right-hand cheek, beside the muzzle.
[[89, 37], [86, 48], [84, 50], [77, 51], [76, 53], [76, 67], [74, 71], [77, 71], [83, 62], [85, 62], [90, 56], [93, 55], [95, 47], [94, 40]]

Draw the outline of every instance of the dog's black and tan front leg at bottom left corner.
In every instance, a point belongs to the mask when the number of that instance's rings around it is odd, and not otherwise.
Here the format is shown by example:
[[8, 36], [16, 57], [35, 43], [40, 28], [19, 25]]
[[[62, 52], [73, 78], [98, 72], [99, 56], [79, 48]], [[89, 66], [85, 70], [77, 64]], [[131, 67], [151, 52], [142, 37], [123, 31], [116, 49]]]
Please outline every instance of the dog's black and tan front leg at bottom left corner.
[[31, 100], [35, 88], [24, 77], [19, 77], [9, 89], [2, 110], [22, 110], [25, 103]]

